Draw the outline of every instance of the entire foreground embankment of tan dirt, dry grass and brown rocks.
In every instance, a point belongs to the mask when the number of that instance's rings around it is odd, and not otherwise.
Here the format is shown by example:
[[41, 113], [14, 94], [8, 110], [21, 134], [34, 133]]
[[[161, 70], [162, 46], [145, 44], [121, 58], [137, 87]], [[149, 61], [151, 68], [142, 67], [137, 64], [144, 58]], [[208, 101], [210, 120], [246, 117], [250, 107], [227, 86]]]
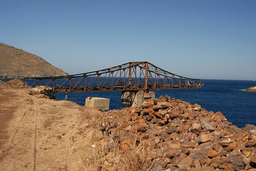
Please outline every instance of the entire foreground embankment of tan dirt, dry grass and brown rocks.
[[255, 171], [256, 127], [168, 96], [100, 112], [0, 88], [3, 171]]

